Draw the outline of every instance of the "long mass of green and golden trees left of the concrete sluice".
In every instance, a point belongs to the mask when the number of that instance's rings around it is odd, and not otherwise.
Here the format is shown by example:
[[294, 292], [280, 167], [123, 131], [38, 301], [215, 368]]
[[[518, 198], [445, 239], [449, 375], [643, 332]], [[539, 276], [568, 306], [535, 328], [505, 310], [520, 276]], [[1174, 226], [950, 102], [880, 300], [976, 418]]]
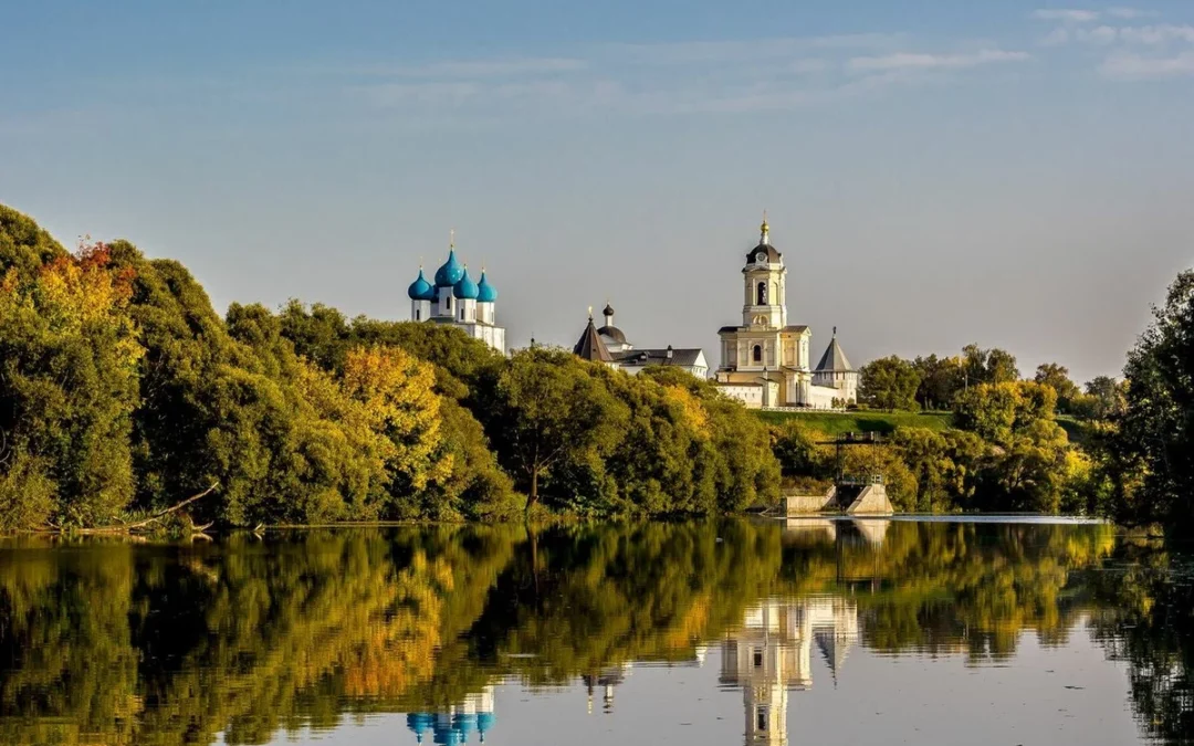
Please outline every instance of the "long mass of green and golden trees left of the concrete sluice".
[[778, 498], [707, 382], [291, 302], [220, 316], [178, 261], [0, 206], [0, 530], [708, 514]]

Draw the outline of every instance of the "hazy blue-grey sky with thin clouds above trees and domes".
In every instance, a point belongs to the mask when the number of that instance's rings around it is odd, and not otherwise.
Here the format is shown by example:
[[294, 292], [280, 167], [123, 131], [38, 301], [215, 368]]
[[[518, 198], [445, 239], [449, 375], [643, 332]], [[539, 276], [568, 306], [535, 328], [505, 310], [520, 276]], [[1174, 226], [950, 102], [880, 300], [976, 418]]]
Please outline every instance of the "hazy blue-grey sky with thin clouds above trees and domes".
[[0, 202], [223, 308], [405, 317], [449, 228], [512, 344], [789, 319], [1114, 374], [1194, 264], [1194, 4], [0, 2]]

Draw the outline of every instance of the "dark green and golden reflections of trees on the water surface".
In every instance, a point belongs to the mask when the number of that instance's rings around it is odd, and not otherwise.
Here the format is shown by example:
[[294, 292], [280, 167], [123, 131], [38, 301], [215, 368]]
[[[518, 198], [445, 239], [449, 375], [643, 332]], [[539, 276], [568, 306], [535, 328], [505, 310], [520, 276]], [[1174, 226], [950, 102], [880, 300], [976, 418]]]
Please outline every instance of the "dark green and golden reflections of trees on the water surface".
[[[1140, 711], [1188, 726], [1188, 679], [1158, 672], [1189, 671], [1180, 636], [1192, 631], [1189, 591], [1149, 575], [1112, 587], [1114, 574], [1075, 573], [1112, 549], [1106, 526], [876, 525], [424, 528], [6, 547], [0, 740], [205, 744], [224, 732], [230, 744], [256, 742], [344, 714], [445, 711], [501, 676], [604, 686], [629, 661], [696, 660], [763, 599], [814, 593], [850, 594], [867, 647], [973, 659], [1013, 654], [1023, 629], [1064, 642], [1077, 614], [1094, 609], [1102, 639], [1133, 661]], [[1125, 593], [1149, 602], [1133, 606]], [[1127, 624], [1130, 635], [1116, 633]]]

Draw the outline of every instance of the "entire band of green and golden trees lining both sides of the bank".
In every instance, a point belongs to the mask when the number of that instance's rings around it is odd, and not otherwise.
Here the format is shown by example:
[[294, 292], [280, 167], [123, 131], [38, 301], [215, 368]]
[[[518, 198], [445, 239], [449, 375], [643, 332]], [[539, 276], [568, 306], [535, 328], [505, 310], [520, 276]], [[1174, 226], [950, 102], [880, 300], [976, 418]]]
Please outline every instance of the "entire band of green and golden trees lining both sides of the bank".
[[[1194, 272], [1122, 381], [1024, 378], [978, 345], [887, 357], [862, 406], [952, 411], [848, 454], [900, 510], [1040, 511], [1194, 529]], [[127, 241], [66, 251], [0, 205], [0, 530], [122, 524], [701, 516], [823, 488], [799, 421], [768, 429], [665, 366], [627, 376], [538, 347], [506, 358], [435, 323], [320, 304], [217, 314], [186, 269]], [[184, 519], [185, 520], [185, 519]]]

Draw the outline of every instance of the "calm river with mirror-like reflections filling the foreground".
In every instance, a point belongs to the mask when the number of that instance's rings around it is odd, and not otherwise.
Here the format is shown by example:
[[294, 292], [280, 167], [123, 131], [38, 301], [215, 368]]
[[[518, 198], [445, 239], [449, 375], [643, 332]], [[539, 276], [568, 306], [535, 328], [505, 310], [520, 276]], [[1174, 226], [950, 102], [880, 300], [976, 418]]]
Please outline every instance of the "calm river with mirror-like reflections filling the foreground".
[[1192, 569], [1077, 523], [10, 540], [0, 742], [1187, 742]]

